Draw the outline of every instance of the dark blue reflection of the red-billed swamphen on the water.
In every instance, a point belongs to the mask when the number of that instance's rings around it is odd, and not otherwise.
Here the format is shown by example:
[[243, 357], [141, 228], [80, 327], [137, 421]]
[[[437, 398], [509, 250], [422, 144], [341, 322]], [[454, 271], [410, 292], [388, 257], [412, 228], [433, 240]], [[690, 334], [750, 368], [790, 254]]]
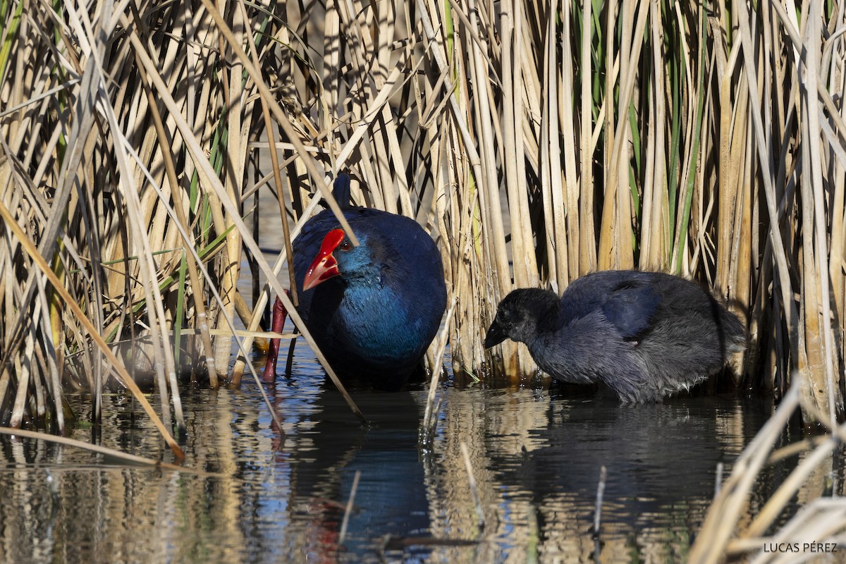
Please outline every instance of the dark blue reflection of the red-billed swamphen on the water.
[[[275, 384], [276, 396], [287, 395], [285, 381]], [[295, 518], [308, 521], [310, 536], [319, 539], [327, 555], [357, 561], [376, 557], [382, 539], [426, 535], [429, 506], [423, 466], [417, 452], [422, 409], [420, 393], [378, 392], [352, 388], [354, 399], [369, 424], [362, 425], [329, 381], [321, 381], [308, 416], [309, 430], [288, 457], [291, 503]], [[279, 413], [285, 417], [286, 413]], [[289, 413], [287, 414], [290, 415]], [[338, 535], [354, 482], [354, 511], [346, 537]], [[405, 556], [415, 554], [409, 551]]]

